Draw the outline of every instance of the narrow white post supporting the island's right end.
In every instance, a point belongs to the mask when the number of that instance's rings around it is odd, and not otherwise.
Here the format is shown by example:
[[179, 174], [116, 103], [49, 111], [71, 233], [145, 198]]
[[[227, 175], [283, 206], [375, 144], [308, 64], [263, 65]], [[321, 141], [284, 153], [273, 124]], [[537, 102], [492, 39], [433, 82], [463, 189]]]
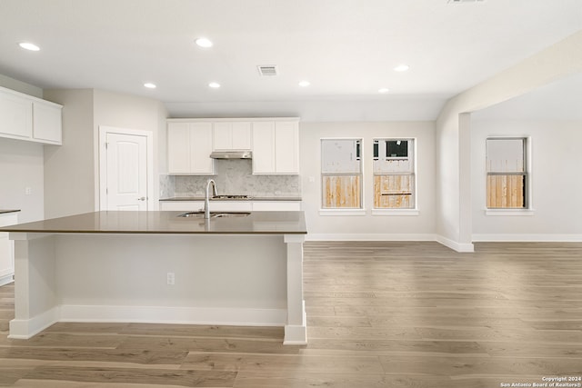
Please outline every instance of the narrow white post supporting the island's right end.
[[285, 344], [306, 344], [306, 303], [303, 295], [303, 243], [305, 235], [286, 234], [287, 323]]

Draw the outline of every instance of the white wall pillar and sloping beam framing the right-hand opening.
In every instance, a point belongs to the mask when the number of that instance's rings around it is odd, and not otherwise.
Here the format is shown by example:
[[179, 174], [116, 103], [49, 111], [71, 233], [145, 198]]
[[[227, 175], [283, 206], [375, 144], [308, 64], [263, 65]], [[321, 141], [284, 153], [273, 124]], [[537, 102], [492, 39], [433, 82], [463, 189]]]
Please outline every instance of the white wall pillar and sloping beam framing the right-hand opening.
[[458, 251], [472, 251], [471, 122], [467, 113], [507, 101], [582, 72], [582, 31], [533, 55], [447, 102], [437, 119], [437, 234]]

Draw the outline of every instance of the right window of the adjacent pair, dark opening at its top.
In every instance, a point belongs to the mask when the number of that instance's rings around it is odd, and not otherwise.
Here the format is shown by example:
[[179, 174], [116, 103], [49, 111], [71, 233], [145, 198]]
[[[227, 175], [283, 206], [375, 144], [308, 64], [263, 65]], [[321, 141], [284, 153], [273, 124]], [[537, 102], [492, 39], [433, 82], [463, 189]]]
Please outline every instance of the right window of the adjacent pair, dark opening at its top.
[[413, 139], [374, 140], [374, 208], [414, 209]]

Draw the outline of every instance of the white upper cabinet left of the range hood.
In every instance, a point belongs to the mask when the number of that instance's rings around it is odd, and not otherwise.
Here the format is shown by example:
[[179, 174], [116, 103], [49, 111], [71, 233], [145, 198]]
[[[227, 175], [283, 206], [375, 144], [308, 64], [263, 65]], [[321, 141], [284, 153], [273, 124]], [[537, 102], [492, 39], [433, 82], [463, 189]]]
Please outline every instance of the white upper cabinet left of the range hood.
[[169, 174], [214, 174], [212, 123], [168, 123]]

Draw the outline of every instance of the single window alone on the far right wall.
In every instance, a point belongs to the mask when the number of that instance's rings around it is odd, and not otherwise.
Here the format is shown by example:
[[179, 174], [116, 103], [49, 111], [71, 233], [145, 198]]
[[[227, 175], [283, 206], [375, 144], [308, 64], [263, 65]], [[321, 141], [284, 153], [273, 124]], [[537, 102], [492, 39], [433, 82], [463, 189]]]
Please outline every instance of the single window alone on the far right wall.
[[527, 208], [525, 138], [487, 139], [487, 208]]

